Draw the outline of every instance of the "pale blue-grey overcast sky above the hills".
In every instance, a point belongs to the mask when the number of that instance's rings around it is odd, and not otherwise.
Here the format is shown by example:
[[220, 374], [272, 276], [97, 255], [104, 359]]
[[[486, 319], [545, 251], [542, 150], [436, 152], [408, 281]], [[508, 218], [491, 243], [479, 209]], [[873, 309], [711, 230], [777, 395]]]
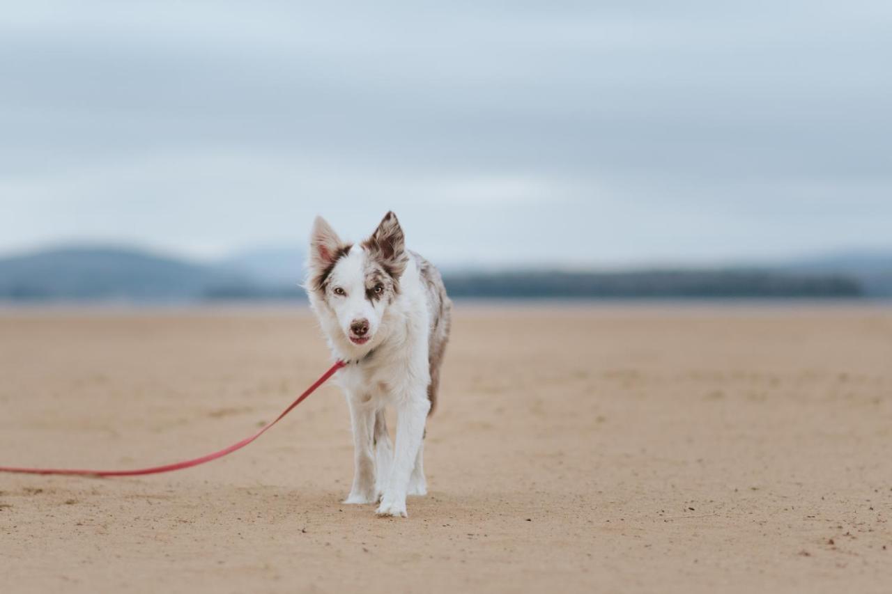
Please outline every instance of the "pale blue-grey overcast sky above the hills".
[[0, 254], [892, 249], [892, 3], [3, 2]]

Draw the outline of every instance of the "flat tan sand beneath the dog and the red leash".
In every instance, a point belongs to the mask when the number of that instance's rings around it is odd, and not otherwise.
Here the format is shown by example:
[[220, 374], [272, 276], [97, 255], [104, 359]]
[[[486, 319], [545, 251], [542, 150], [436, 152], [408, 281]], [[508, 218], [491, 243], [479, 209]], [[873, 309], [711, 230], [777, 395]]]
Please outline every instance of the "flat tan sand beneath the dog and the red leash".
[[[327, 365], [303, 309], [0, 312], [0, 464], [215, 450]], [[892, 309], [460, 307], [431, 493], [347, 506], [334, 386], [144, 478], [0, 475], [4, 592], [892, 590]]]

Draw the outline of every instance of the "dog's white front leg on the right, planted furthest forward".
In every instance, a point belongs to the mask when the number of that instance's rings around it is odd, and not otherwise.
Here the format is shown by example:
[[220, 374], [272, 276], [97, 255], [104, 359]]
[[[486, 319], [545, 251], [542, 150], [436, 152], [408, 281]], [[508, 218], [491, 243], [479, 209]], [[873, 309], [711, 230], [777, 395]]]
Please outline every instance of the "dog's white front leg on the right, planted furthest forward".
[[424, 387], [412, 390], [397, 404], [396, 447], [390, 478], [381, 498], [381, 506], [378, 507], [378, 516], [407, 516], [409, 476], [425, 434], [425, 421], [430, 408], [431, 403], [427, 400]]

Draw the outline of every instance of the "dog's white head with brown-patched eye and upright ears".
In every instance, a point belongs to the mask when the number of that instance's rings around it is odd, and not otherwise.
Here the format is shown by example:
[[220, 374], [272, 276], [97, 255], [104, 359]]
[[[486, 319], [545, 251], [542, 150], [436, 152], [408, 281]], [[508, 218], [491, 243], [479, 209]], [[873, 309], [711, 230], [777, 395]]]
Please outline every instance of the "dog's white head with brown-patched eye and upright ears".
[[307, 291], [329, 334], [343, 333], [343, 339], [330, 338], [354, 351], [372, 348], [387, 309], [400, 294], [408, 262], [402, 228], [392, 212], [356, 245], [341, 241], [318, 217], [310, 237]]

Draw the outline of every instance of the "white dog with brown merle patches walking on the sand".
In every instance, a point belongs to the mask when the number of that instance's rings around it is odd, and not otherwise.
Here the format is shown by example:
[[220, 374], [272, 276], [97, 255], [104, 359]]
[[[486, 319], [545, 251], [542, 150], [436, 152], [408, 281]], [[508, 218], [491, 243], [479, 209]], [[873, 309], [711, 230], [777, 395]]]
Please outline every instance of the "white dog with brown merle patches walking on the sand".
[[[424, 437], [449, 341], [452, 302], [434, 266], [405, 247], [393, 212], [361, 243], [344, 243], [317, 217], [306, 290], [329, 347], [347, 363], [335, 376], [350, 407], [354, 474], [344, 503], [379, 503], [407, 517], [406, 496], [426, 495]], [[384, 408], [397, 412], [392, 445]]]

